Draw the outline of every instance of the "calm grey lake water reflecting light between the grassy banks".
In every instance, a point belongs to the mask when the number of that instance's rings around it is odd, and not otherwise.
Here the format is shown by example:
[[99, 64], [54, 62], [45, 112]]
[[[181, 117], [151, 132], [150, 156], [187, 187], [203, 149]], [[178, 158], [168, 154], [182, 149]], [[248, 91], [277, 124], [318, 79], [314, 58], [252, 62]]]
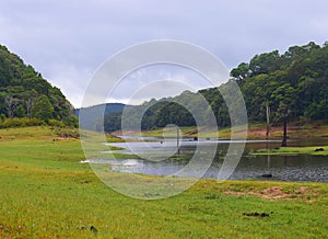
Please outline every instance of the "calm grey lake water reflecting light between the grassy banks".
[[[147, 147], [142, 143], [126, 144], [115, 143], [112, 146], [124, 147], [126, 150], [120, 150], [120, 153], [138, 153], [148, 155], [154, 152], [172, 153], [176, 150], [176, 143], [163, 147], [163, 141], [160, 138], [147, 138], [151, 140], [147, 143]], [[214, 160], [206, 171], [202, 178], [218, 179], [220, 169], [224, 161], [230, 144], [241, 144], [241, 141], [230, 140], [199, 140], [191, 141], [184, 139], [180, 141], [179, 155], [175, 155], [166, 160], [145, 160], [145, 159], [106, 159], [106, 153], [103, 152], [104, 159], [89, 160], [93, 163], [108, 163], [108, 168], [113, 171], [126, 173], [142, 173], [151, 175], [171, 175], [179, 170], [184, 170], [190, 162], [190, 158], [195, 153], [197, 146], [202, 152], [218, 147]], [[303, 139], [290, 140], [289, 146], [324, 146], [328, 145], [328, 138], [323, 139]], [[241, 158], [236, 169], [229, 177], [230, 180], [271, 180], [271, 181], [295, 181], [295, 182], [328, 182], [328, 157], [323, 156], [249, 156], [257, 149], [276, 148], [280, 146], [280, 141], [265, 140], [247, 140], [243, 157]], [[190, 171], [190, 168], [188, 169]], [[192, 171], [192, 168], [191, 168]], [[271, 174], [271, 178], [263, 178], [263, 174]], [[192, 175], [190, 172], [188, 175]]]

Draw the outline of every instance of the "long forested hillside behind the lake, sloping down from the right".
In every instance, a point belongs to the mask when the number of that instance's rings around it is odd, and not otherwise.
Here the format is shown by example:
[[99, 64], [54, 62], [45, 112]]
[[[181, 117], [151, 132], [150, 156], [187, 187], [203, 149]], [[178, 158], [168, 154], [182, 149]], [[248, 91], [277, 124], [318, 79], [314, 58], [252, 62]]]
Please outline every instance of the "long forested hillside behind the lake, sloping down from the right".
[[[237, 82], [244, 95], [249, 123], [267, 121], [267, 109], [270, 110], [272, 124], [294, 122], [307, 124], [314, 121], [328, 123], [328, 43], [323, 46], [311, 42], [304, 46], [291, 46], [285, 53], [279, 50], [254, 56], [249, 62], [242, 62], [231, 70], [229, 82], [220, 90], [229, 88], [232, 81]], [[199, 95], [209, 105], [202, 105]], [[143, 112], [141, 128], [153, 129], [166, 124], [195, 126], [195, 112], [202, 111], [198, 123], [207, 122], [209, 107], [214, 113], [219, 127], [231, 125], [226, 104], [216, 88], [200, 90], [197, 93], [185, 91], [168, 99], [144, 102], [129, 107], [126, 115], [133, 128], [137, 118]], [[187, 110], [188, 109], [188, 110]], [[105, 116], [105, 130], [114, 132], [121, 127], [121, 113]]]

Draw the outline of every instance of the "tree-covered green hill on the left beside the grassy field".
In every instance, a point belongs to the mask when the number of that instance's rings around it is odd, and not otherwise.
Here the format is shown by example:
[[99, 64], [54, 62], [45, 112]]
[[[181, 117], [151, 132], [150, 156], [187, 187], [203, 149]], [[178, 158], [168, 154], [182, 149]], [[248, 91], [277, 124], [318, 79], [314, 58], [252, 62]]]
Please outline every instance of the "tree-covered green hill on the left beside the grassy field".
[[[37, 118], [45, 123], [77, 124], [73, 107], [32, 66], [0, 45], [0, 115], [5, 118]], [[37, 122], [37, 121], [35, 121]]]

